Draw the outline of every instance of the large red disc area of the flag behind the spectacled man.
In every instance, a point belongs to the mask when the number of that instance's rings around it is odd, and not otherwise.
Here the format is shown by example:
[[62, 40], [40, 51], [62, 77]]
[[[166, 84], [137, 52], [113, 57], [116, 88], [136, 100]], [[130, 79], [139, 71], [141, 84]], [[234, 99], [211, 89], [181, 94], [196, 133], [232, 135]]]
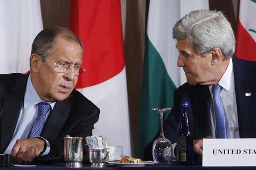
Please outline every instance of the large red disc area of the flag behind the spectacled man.
[[121, 72], [124, 52], [119, 0], [72, 0], [70, 29], [84, 46], [86, 72], [78, 78], [76, 88], [102, 83]]

